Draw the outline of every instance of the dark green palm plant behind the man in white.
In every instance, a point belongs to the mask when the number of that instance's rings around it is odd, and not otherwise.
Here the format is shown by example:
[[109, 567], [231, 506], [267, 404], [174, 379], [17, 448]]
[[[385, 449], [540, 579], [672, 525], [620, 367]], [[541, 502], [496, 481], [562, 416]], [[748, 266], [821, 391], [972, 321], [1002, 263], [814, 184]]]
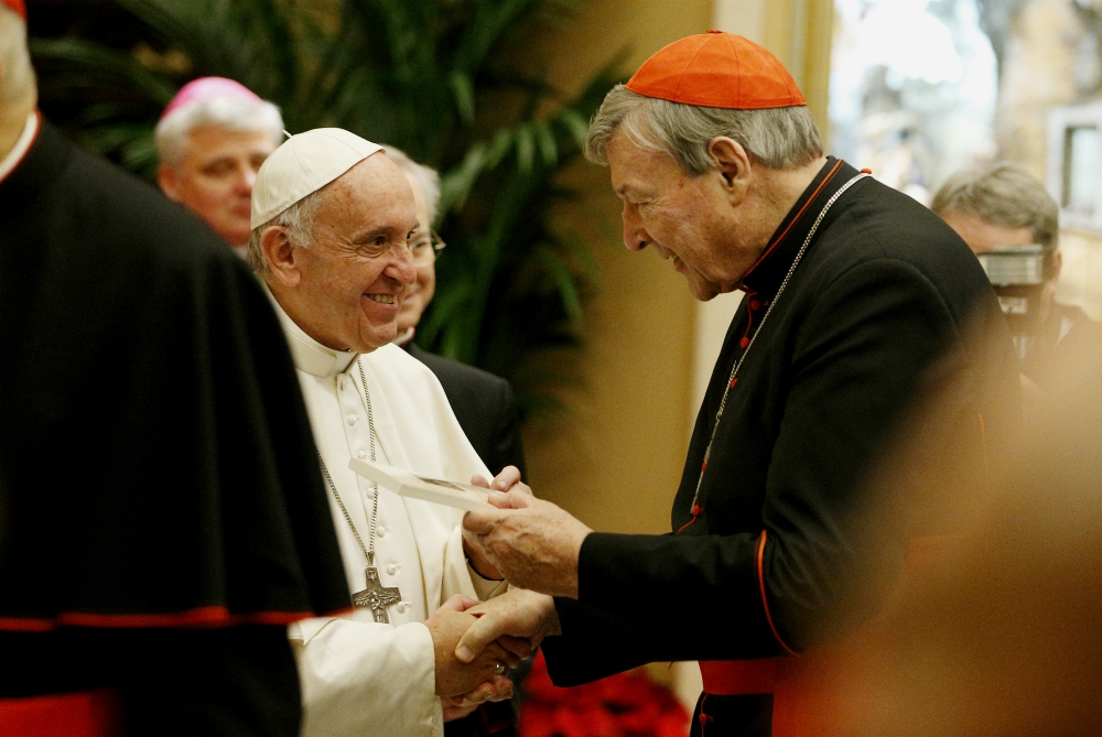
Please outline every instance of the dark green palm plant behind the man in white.
[[[598, 284], [588, 248], [558, 230], [559, 184], [614, 78], [566, 99], [522, 43], [580, 0], [116, 0], [140, 37], [115, 47], [32, 40], [42, 107], [89, 148], [151, 177], [156, 116], [186, 80], [231, 77], [277, 102], [289, 130], [338, 126], [440, 170], [449, 243], [424, 347], [512, 379], [529, 414], [564, 375], [531, 370], [580, 345]], [[119, 47], [119, 46], [122, 47]]]

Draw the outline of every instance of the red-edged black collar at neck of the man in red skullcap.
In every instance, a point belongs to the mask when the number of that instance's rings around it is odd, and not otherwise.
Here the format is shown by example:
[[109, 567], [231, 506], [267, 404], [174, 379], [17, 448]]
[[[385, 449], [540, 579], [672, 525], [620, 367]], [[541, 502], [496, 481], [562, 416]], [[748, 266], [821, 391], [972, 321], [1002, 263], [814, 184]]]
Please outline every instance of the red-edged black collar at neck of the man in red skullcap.
[[[819, 217], [827, 200], [856, 175], [857, 170], [853, 166], [841, 159], [828, 156], [827, 163], [815, 174], [815, 178], [811, 181], [811, 184], [803, 191], [803, 194], [800, 195], [800, 198], [777, 227], [773, 237], [769, 238], [769, 246], [765, 252], [743, 277], [743, 283], [738, 289], [747, 294], [771, 300], [780, 288], [785, 274], [792, 265], [792, 261], [796, 260], [796, 254], [803, 246], [804, 239], [811, 231], [811, 226], [814, 225], [815, 218]], [[820, 226], [820, 230], [822, 229], [823, 227]], [[809, 248], [813, 247], [814, 241]]]

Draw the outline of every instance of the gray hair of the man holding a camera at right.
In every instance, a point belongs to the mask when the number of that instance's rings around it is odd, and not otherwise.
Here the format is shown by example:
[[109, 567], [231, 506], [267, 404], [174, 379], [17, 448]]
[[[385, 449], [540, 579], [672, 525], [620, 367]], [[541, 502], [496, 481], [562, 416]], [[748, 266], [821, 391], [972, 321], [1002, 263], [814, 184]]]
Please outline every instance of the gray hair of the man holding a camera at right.
[[933, 195], [930, 209], [974, 215], [1004, 228], [1029, 228], [1047, 254], [1059, 246], [1059, 206], [1045, 185], [1017, 164], [957, 172]]

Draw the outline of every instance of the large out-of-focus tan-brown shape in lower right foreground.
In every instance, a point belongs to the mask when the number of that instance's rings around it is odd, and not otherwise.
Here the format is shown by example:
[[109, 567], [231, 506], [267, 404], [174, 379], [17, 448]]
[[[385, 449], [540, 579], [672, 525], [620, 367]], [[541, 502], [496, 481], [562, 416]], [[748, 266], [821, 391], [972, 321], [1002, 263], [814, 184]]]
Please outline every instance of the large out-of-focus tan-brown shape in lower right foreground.
[[[829, 672], [846, 737], [1102, 734], [1102, 351], [1047, 367], [1047, 401], [993, 457], [992, 484], [885, 611], [880, 636]], [[889, 479], [897, 481], [898, 479]]]

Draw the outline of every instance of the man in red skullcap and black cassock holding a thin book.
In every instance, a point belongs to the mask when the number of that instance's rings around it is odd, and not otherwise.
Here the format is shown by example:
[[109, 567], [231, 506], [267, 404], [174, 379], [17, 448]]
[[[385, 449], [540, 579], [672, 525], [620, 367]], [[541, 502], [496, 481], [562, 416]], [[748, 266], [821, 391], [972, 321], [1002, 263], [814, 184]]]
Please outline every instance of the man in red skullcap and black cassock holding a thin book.
[[[800, 90], [726, 33], [651, 56], [595, 116], [624, 242], [672, 262], [698, 300], [739, 289], [673, 501], [672, 534], [593, 532], [523, 487], [471, 512], [516, 586], [473, 611], [467, 658], [500, 632], [542, 635], [552, 679], [699, 660], [694, 734], [819, 734], [801, 664], [878, 609], [932, 520], [912, 489], [868, 496], [885, 446], [948, 394], [930, 457], [984, 445], [1017, 397], [1012, 345], [983, 270], [937, 216], [822, 153]], [[994, 348], [969, 326], [995, 330]], [[495, 479], [501, 488], [510, 472]], [[880, 524], [863, 510], [885, 508]], [[509, 509], [514, 507], [514, 509]], [[879, 585], [869, 585], [875, 581]]]

